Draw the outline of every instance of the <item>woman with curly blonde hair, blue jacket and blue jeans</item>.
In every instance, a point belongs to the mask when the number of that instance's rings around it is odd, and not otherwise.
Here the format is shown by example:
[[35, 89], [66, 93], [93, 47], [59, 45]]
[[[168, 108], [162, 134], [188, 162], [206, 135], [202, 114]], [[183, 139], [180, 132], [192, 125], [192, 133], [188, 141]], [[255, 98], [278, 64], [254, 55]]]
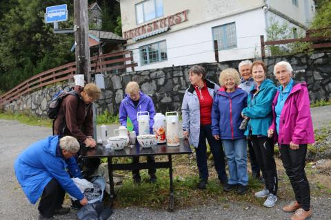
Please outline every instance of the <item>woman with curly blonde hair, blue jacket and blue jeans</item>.
[[239, 73], [236, 69], [224, 69], [219, 76], [221, 89], [214, 97], [212, 106], [212, 135], [221, 142], [228, 159], [230, 179], [225, 191], [238, 186], [237, 193], [244, 194], [248, 185], [247, 142], [239, 129], [243, 118], [241, 111], [246, 107], [247, 94], [238, 88]]

